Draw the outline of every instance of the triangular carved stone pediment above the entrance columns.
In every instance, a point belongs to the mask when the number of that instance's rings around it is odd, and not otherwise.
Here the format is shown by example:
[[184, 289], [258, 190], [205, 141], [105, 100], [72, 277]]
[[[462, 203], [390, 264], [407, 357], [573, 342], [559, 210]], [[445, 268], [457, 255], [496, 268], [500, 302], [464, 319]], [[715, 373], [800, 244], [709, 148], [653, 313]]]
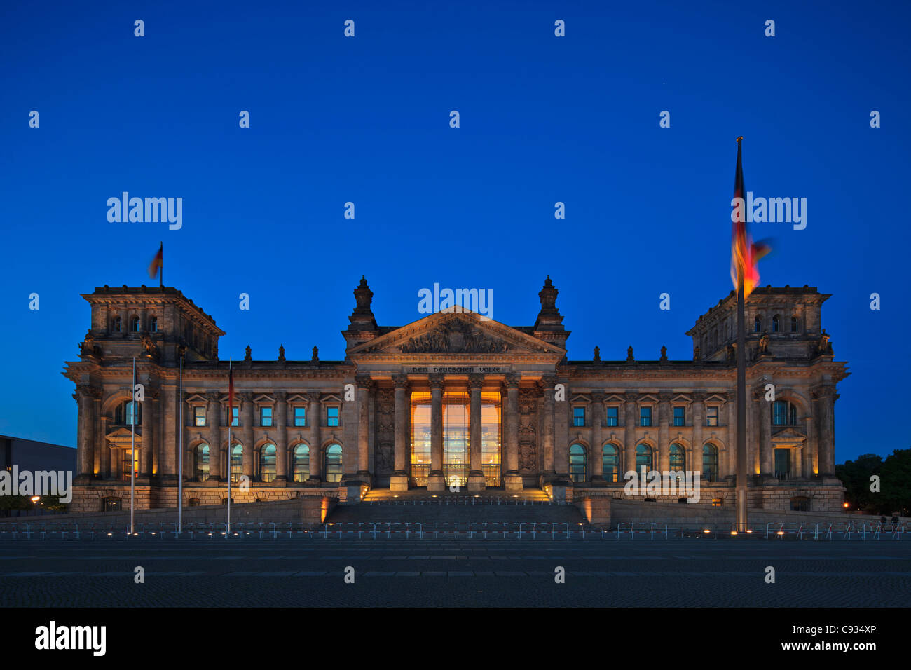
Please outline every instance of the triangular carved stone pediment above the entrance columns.
[[566, 350], [559, 346], [474, 312], [430, 314], [354, 346], [348, 353], [368, 356], [566, 356]]

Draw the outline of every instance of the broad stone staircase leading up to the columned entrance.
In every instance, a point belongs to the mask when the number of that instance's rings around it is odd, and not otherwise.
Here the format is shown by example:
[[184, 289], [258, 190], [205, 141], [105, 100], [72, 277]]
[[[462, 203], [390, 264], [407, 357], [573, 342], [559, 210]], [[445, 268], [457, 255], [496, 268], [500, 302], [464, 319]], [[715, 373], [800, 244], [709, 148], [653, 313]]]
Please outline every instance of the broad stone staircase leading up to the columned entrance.
[[518, 524], [525, 529], [532, 523], [563, 524], [578, 529], [588, 527], [585, 517], [573, 505], [552, 503], [543, 490], [502, 491], [486, 490], [428, 493], [426, 490], [371, 490], [363, 501], [339, 504], [326, 519], [327, 524], [346, 525], [379, 523], [404, 528], [404, 524], [422, 523], [425, 528], [474, 530], [502, 529], [516, 531]]

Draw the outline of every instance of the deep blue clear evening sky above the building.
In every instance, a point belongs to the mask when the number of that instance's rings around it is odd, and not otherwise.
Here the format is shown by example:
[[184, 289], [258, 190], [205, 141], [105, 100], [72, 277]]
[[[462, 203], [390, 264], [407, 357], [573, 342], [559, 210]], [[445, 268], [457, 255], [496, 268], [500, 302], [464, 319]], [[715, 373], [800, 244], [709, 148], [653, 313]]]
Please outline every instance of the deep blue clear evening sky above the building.
[[[752, 232], [775, 238], [763, 285], [833, 294], [836, 459], [911, 444], [906, 3], [185, 5], [0, 6], [0, 433], [74, 444], [79, 294], [152, 283], [161, 240], [224, 358], [343, 357], [362, 274], [384, 325], [434, 283], [493, 289], [497, 321], [530, 325], [549, 273], [570, 358], [689, 359], [731, 290], [743, 135], [749, 190], [808, 199], [804, 231]], [[121, 191], [182, 197], [182, 229], [108, 223]]]

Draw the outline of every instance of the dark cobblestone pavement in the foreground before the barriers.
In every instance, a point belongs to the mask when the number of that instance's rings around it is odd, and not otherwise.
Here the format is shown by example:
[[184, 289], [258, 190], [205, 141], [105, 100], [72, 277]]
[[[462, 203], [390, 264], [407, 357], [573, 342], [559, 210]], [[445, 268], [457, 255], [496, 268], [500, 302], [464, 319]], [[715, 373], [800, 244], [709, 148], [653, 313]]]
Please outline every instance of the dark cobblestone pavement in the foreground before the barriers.
[[0, 553], [5, 607], [911, 605], [911, 542], [897, 541], [33, 540]]

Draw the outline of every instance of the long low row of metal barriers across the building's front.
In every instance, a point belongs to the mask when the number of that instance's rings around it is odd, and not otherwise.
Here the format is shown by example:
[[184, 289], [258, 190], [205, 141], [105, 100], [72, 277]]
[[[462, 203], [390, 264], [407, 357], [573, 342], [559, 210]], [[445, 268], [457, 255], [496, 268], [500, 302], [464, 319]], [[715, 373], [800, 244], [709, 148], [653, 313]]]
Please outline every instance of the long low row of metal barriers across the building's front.
[[350, 522], [324, 523], [312, 527], [298, 522], [238, 522], [230, 535], [224, 523], [137, 523], [129, 526], [91, 523], [0, 523], [0, 541], [165, 541], [165, 540], [764, 540], [764, 541], [901, 541], [909, 524], [903, 523], [767, 523], [748, 531], [733, 531], [729, 525], [679, 525], [618, 523], [592, 526], [561, 522]]

